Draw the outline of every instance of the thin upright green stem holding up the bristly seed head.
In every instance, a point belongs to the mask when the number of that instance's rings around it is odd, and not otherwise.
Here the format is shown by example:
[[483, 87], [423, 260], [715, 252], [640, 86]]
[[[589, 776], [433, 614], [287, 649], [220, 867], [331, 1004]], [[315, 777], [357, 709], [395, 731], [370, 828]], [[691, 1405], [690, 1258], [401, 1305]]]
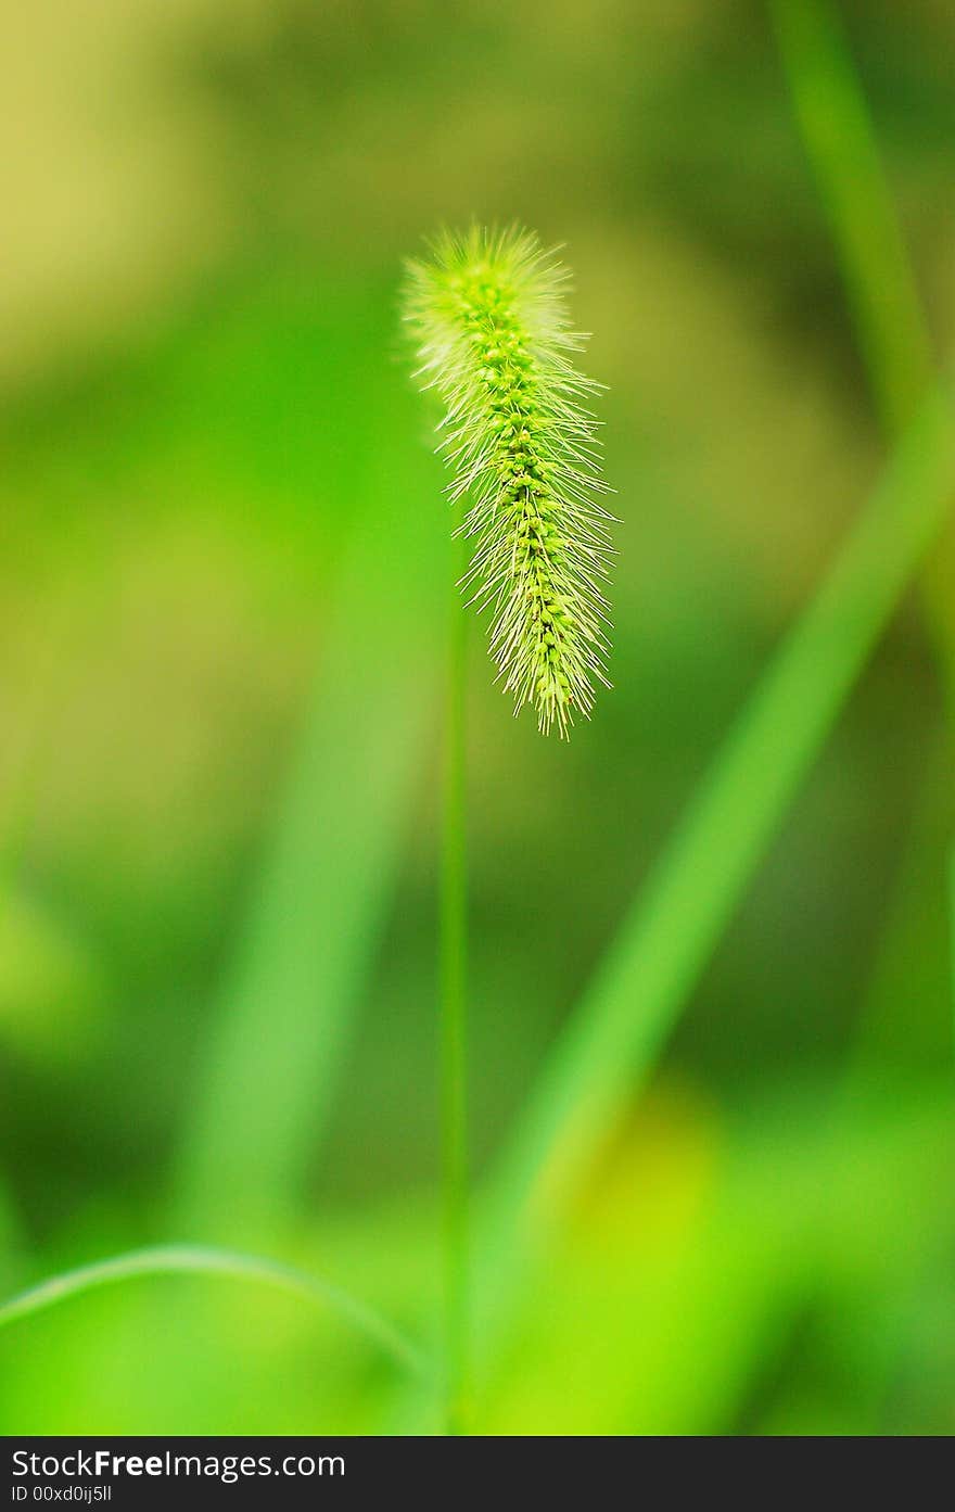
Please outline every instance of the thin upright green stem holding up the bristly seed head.
[[[455, 526], [461, 525], [456, 513]], [[464, 1433], [468, 1380], [467, 1155], [467, 615], [455, 535], [449, 606], [441, 833], [441, 1142], [444, 1208], [446, 1427]]]

